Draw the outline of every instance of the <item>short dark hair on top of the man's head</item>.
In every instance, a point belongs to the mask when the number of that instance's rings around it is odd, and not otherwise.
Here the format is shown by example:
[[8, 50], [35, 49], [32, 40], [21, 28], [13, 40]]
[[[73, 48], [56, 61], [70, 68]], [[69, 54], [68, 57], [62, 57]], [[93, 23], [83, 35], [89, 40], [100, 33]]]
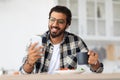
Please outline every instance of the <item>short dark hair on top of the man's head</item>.
[[67, 19], [67, 24], [70, 25], [71, 24], [71, 17], [72, 17], [72, 14], [71, 14], [71, 11], [65, 7], [65, 6], [60, 6], [60, 5], [57, 5], [55, 7], [53, 7], [50, 12], [49, 12], [49, 18], [51, 16], [51, 13], [55, 11], [55, 12], [60, 12], [60, 13], [63, 13], [66, 15]]

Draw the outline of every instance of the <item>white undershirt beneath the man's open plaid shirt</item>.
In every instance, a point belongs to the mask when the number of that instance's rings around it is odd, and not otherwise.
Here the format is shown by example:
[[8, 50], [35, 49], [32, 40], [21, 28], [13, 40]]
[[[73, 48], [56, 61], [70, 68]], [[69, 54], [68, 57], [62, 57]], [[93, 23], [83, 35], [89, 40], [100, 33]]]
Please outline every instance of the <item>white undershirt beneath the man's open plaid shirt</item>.
[[60, 68], [60, 44], [53, 45], [53, 54], [48, 68], [49, 74], [54, 74]]

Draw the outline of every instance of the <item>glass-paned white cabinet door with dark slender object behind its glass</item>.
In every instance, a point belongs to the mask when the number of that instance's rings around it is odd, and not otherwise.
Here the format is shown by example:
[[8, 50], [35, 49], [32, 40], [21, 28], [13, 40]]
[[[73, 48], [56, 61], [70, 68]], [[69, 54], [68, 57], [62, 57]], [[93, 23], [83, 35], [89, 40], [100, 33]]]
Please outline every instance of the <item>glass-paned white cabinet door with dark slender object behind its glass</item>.
[[106, 36], [104, 0], [87, 0], [87, 35]]

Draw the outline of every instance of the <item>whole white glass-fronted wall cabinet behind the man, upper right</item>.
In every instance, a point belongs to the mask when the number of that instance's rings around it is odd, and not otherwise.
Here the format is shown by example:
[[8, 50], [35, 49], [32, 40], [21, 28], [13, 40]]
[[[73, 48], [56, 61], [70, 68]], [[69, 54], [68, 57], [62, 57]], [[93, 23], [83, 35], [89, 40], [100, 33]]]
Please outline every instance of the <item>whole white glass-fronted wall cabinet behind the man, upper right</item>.
[[86, 40], [120, 40], [120, 0], [56, 0], [72, 11], [69, 31]]

